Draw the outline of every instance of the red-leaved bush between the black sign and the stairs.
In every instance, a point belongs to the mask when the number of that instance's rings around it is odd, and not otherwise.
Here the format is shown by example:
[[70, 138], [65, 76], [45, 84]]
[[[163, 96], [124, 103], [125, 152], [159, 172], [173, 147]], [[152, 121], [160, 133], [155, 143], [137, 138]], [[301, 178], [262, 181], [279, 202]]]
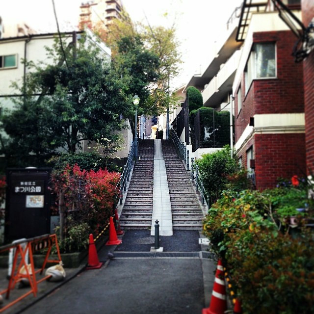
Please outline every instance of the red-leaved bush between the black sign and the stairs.
[[82, 234], [98, 235], [102, 231], [112, 215], [119, 179], [119, 173], [80, 170], [78, 165], [52, 172], [52, 191], [60, 213], [61, 247], [65, 251], [80, 247], [77, 241], [81, 241]]

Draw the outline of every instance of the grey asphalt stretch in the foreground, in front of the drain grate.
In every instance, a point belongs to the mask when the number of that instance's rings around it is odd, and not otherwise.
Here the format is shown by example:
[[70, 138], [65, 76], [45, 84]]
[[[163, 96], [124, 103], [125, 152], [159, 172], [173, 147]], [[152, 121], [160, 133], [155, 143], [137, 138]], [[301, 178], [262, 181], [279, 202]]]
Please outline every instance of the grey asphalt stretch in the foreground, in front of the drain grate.
[[113, 259], [23, 313], [191, 314], [203, 307], [200, 259]]

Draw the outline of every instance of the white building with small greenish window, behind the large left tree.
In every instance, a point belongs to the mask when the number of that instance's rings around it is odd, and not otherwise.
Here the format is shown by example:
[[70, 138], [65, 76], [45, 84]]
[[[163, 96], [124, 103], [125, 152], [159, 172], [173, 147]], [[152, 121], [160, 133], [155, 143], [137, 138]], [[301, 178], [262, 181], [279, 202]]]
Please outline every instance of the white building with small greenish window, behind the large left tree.
[[[100, 48], [102, 57], [110, 61], [111, 51], [100, 41], [91, 30], [86, 28], [88, 42], [97, 45]], [[66, 32], [63, 33], [67, 45], [72, 44], [73, 40], [77, 39], [84, 33], [80, 32]], [[15, 36], [0, 39], [0, 110], [4, 108], [13, 108], [12, 97], [19, 91], [12, 86], [13, 82], [17, 82], [22, 86], [23, 80], [29, 71], [23, 60], [32, 61], [35, 64], [44, 62], [49, 64], [52, 59], [48, 58], [45, 47], [52, 47], [54, 38], [57, 34], [28, 34], [26, 36]], [[87, 43], [86, 43], [87, 45]], [[129, 122], [126, 121], [129, 125]], [[126, 128], [121, 131], [124, 140], [124, 149], [119, 151], [117, 156], [127, 157], [131, 148], [132, 135], [131, 131]], [[87, 142], [83, 144], [83, 151], [88, 151]]]

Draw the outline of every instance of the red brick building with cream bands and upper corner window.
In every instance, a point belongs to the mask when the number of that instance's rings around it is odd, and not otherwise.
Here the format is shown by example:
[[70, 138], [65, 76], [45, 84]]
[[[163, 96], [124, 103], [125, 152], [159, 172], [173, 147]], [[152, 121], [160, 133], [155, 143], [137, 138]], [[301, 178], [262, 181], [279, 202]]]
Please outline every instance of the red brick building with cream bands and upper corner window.
[[[243, 3], [237, 39], [244, 43], [233, 85], [235, 150], [258, 189], [306, 175], [303, 65], [291, 56], [296, 37], [269, 3]], [[300, 10], [294, 13], [301, 18]]]

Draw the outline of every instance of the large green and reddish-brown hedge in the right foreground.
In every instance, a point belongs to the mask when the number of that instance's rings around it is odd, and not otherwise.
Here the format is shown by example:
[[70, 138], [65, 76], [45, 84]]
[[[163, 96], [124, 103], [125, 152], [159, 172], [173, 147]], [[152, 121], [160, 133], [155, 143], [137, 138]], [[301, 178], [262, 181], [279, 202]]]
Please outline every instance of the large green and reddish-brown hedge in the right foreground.
[[[224, 259], [244, 314], [314, 313], [313, 232], [301, 224], [290, 234], [280, 217], [287, 204], [304, 204], [306, 195], [295, 187], [226, 190], [209, 209], [204, 234]], [[313, 217], [313, 201], [307, 201], [300, 222]]]

